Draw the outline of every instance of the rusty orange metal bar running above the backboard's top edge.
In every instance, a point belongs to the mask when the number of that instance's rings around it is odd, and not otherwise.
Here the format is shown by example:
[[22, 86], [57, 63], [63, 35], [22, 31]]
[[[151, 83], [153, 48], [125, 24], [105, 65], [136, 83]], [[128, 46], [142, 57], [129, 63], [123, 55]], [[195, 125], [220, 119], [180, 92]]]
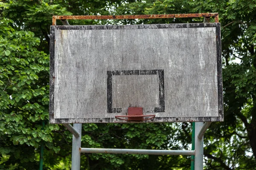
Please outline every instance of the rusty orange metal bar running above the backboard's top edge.
[[197, 14], [152, 14], [152, 15], [54, 15], [52, 25], [56, 26], [56, 20], [108, 20], [108, 19], [155, 19], [155, 18], [189, 18], [189, 17], [215, 17], [218, 23], [218, 13]]

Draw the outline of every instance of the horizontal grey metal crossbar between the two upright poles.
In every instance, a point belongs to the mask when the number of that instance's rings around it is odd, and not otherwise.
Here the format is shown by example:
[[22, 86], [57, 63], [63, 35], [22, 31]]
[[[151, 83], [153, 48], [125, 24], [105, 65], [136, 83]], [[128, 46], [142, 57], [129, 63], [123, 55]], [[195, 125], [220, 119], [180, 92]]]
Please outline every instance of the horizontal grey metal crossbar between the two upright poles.
[[104, 149], [104, 148], [80, 148], [79, 150], [81, 153], [195, 155], [195, 150], [146, 150], [146, 149]]

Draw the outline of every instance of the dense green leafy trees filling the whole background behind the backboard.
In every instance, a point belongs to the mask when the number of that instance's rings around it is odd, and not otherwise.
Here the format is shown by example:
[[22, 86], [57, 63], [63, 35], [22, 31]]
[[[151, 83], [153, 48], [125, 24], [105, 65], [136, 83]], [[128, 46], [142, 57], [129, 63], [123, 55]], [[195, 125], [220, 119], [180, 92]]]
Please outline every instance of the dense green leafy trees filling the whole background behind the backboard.
[[[256, 167], [255, 0], [0, 0], [0, 169], [68, 170], [72, 135], [48, 123], [52, 15], [218, 12], [224, 119], [205, 134], [204, 168]], [[59, 22], [59, 21], [58, 21]], [[70, 20], [71, 25], [196, 23], [203, 18]], [[213, 19], [212, 19], [213, 22]], [[61, 23], [57, 23], [61, 25]], [[82, 147], [190, 149], [190, 123], [84, 124]], [[81, 169], [190, 169], [189, 156], [82, 154]]]

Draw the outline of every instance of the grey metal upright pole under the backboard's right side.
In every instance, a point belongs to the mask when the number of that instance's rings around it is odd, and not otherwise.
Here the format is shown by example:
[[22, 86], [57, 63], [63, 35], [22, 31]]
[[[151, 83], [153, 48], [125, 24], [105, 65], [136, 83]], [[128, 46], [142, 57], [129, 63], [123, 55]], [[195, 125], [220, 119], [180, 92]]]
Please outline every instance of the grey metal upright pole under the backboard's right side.
[[203, 170], [204, 138], [198, 138], [198, 134], [203, 126], [204, 122], [195, 122], [195, 170]]

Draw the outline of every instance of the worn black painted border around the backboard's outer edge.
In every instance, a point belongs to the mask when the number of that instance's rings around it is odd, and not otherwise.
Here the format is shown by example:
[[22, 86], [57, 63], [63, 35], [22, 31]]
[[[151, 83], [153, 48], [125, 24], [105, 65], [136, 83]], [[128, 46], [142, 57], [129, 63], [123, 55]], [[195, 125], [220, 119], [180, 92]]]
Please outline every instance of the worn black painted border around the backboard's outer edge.
[[[116, 123], [115, 118], [54, 118], [54, 66], [55, 66], [55, 30], [101, 30], [101, 29], [157, 29], [157, 28], [216, 28], [217, 81], [218, 81], [218, 116], [205, 117], [155, 117], [150, 122], [223, 122], [223, 85], [221, 62], [221, 24], [220, 23], [184, 23], [184, 24], [151, 24], [122, 26], [51, 26], [50, 28], [50, 102], [49, 122], [61, 123]], [[149, 122], [149, 121], [145, 121]]]

